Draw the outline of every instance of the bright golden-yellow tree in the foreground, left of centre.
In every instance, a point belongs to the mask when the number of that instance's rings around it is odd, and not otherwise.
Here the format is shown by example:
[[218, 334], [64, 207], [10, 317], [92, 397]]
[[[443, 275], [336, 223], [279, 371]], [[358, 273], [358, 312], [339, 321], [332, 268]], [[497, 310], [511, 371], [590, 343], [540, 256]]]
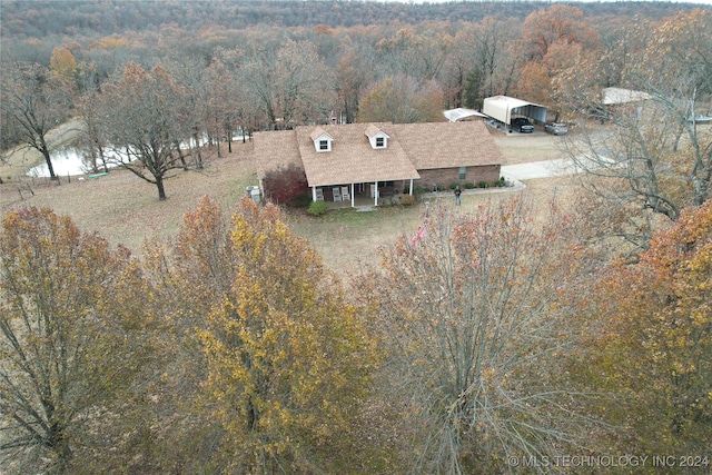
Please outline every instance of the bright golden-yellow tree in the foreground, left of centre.
[[315, 251], [271, 205], [245, 199], [227, 225], [206, 198], [186, 215], [176, 256], [195, 284], [186, 295], [206, 365], [200, 405], [222, 433], [212, 458], [235, 473], [347, 461], [373, 348]]

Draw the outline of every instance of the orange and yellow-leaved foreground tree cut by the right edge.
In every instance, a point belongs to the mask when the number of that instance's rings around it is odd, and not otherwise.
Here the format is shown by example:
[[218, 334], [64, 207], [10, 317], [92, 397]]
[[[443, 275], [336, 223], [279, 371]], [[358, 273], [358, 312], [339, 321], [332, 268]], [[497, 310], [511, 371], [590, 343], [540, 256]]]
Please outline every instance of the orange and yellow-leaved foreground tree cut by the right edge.
[[640, 264], [595, 290], [576, 372], [610, 397], [600, 414], [625, 451], [712, 455], [712, 202], [685, 208]]

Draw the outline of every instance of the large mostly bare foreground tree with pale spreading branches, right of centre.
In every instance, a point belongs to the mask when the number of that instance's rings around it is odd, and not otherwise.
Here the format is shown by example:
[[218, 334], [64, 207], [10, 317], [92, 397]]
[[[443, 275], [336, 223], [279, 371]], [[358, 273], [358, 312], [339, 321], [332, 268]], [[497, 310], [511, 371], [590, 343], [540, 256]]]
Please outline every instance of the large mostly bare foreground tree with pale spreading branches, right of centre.
[[497, 473], [506, 456], [553, 456], [585, 431], [555, 369], [576, 333], [560, 297], [585, 259], [550, 211], [540, 227], [523, 200], [463, 216], [435, 207], [359, 279], [411, 473]]

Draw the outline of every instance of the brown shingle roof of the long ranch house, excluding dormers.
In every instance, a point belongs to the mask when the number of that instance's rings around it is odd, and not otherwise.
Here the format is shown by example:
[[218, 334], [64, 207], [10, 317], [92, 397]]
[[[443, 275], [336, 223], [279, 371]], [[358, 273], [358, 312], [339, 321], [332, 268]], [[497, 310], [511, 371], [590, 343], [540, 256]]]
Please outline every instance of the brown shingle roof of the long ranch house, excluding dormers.
[[[315, 130], [334, 139], [330, 151], [316, 151]], [[385, 149], [373, 149], [368, 141], [367, 133], [378, 130], [390, 137]], [[301, 126], [257, 132], [254, 140], [259, 178], [295, 164], [304, 168], [309, 186], [417, 179], [417, 170], [504, 162], [481, 121]]]

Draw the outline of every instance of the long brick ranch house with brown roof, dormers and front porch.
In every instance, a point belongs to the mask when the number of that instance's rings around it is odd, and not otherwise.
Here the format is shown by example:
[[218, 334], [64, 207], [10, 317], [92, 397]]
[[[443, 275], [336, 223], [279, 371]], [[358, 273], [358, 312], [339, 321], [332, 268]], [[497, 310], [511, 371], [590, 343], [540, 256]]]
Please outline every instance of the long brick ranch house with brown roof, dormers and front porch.
[[299, 126], [256, 132], [254, 150], [263, 196], [268, 174], [296, 167], [314, 201], [352, 207], [416, 187], [493, 184], [504, 161], [483, 121]]

